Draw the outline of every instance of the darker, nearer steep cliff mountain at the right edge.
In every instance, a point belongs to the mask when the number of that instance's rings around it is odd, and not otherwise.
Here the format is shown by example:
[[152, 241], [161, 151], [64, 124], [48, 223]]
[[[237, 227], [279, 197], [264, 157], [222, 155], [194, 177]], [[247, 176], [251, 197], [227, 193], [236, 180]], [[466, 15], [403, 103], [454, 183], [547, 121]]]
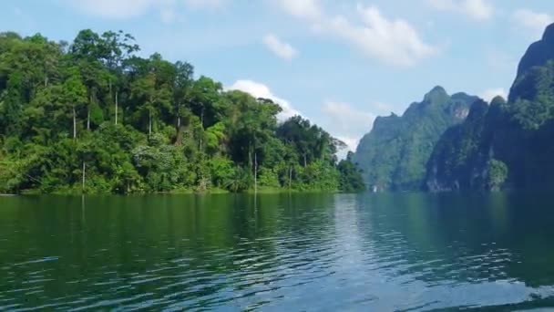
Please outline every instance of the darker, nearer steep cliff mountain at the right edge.
[[508, 102], [476, 103], [427, 163], [431, 191], [554, 187], [554, 25], [528, 48]]

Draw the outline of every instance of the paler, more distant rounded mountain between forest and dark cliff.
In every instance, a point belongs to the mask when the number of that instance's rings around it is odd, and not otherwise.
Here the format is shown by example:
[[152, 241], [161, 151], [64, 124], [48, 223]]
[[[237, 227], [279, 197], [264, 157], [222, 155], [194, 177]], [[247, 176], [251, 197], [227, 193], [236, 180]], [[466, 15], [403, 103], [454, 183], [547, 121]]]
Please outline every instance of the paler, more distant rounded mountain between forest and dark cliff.
[[412, 103], [402, 116], [378, 117], [354, 154], [372, 190], [419, 190], [425, 184], [426, 161], [441, 134], [466, 119], [477, 97], [449, 96], [442, 87]]

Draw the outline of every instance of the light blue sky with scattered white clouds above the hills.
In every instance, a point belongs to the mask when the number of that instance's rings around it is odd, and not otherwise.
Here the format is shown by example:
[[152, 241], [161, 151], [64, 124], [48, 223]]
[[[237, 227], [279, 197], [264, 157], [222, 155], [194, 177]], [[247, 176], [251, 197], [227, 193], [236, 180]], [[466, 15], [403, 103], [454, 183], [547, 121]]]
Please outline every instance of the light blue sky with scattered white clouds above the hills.
[[147, 57], [277, 99], [354, 148], [436, 85], [506, 95], [554, 21], [545, 0], [4, 0], [0, 28], [71, 41], [122, 29]]

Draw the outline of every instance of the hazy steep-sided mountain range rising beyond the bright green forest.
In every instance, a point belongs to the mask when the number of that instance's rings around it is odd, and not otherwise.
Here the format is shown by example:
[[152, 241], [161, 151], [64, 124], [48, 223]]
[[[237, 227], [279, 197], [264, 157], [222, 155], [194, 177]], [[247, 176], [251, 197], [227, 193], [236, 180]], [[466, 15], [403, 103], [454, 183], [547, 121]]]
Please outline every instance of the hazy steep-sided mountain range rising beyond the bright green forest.
[[434, 88], [377, 118], [354, 154], [374, 191], [554, 188], [554, 25], [528, 47], [508, 99]]

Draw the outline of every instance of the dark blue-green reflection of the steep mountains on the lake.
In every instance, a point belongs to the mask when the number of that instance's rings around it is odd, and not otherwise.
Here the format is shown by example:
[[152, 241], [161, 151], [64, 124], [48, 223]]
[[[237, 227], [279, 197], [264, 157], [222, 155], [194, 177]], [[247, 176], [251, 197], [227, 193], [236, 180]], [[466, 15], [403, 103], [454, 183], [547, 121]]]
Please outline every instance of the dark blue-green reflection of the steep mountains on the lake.
[[549, 202], [524, 194], [395, 193], [361, 203], [364, 231], [395, 275], [430, 283], [554, 283]]

